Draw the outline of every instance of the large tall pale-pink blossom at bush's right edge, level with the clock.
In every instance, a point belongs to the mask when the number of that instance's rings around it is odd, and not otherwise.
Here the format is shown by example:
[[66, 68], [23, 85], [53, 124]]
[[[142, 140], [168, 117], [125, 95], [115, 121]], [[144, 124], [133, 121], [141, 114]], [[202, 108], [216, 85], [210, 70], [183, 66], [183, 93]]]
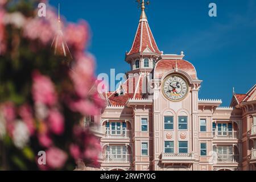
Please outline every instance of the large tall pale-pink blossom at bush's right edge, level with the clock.
[[94, 64], [92, 57], [80, 56], [69, 76], [75, 86], [76, 93], [80, 97], [86, 97], [93, 85]]

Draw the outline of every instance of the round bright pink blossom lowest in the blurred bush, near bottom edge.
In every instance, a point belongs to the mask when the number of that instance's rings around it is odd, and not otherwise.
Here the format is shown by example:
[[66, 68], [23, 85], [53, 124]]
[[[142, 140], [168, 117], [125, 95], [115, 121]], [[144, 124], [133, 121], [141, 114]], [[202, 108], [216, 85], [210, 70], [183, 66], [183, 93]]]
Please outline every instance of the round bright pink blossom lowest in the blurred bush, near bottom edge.
[[51, 147], [46, 151], [46, 163], [52, 169], [60, 169], [64, 166], [68, 155], [59, 148]]

